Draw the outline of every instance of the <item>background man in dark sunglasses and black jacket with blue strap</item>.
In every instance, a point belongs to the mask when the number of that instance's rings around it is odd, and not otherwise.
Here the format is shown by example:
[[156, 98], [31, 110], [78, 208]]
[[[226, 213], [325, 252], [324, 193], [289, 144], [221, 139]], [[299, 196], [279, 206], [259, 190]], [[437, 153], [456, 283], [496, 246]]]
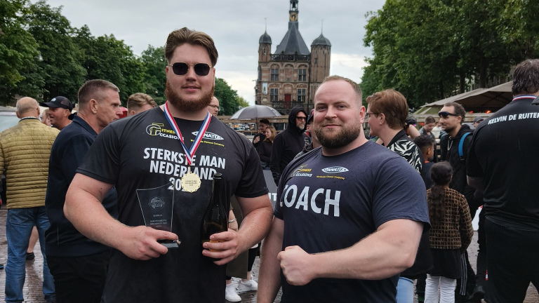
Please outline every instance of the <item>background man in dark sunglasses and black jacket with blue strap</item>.
[[[455, 102], [448, 102], [441, 108], [440, 117], [441, 129], [447, 135], [440, 138], [441, 161], [448, 161], [453, 168], [453, 177], [449, 182], [449, 188], [455, 189], [466, 197], [470, 206], [470, 215], [475, 216], [477, 208], [483, 203], [483, 198], [476, 190], [467, 184], [466, 180], [466, 159], [472, 144], [472, 133], [470, 126], [463, 125], [466, 115], [464, 107]], [[465, 135], [469, 133], [469, 135]], [[465, 136], [465, 137], [464, 137]], [[464, 137], [464, 138], [463, 138]], [[459, 153], [459, 145], [463, 141], [462, 156]], [[463, 255], [463, 273], [457, 281], [455, 299], [457, 302], [467, 302], [468, 296], [475, 288], [474, 269], [470, 266], [467, 252]], [[475, 302], [475, 301], [474, 301]], [[479, 301], [478, 301], [479, 302]]]

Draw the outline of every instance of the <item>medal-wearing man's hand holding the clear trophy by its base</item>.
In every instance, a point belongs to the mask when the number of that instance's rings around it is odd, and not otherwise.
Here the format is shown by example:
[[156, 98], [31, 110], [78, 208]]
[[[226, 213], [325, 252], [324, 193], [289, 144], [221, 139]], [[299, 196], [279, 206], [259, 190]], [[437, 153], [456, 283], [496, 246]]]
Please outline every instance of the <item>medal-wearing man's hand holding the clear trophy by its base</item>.
[[177, 241], [178, 236], [168, 231], [160, 231], [151, 227], [126, 227], [124, 239], [119, 239], [118, 250], [135, 260], [150, 260], [168, 252], [168, 248], [157, 240]]

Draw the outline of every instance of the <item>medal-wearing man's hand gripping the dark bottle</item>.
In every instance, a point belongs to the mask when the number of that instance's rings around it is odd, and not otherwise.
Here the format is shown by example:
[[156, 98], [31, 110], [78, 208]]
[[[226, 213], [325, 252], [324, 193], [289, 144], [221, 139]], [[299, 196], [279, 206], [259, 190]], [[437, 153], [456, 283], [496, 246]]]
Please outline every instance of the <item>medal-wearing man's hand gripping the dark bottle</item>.
[[215, 261], [213, 263], [217, 265], [227, 264], [234, 260], [240, 253], [238, 250], [240, 236], [237, 231], [232, 229], [222, 231], [218, 234], [211, 235], [210, 240], [216, 242], [204, 242], [202, 244], [202, 247], [204, 248], [204, 250], [202, 250], [202, 255], [214, 258]]

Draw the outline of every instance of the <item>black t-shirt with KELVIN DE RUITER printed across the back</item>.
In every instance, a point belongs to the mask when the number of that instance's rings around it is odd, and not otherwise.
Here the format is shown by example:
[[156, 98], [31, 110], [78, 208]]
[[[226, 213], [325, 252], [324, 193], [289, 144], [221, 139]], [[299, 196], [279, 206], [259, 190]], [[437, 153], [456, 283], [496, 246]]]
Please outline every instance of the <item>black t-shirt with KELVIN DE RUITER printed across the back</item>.
[[514, 100], [475, 130], [467, 175], [484, 178], [488, 217], [539, 228], [539, 107]]

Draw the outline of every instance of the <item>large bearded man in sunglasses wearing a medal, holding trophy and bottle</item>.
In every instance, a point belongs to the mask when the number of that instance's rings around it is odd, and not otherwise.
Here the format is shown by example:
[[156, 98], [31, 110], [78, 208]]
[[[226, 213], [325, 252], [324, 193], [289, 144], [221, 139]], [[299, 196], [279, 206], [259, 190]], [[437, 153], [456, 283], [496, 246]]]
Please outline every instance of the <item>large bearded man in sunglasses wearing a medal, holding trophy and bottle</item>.
[[[115, 248], [102, 302], [222, 302], [222, 265], [259, 243], [270, 227], [272, 206], [256, 150], [207, 109], [218, 58], [213, 39], [184, 27], [168, 35], [164, 50], [166, 104], [105, 128], [66, 196], [65, 215], [74, 226]], [[222, 174], [225, 208], [237, 196], [244, 222], [239, 231], [201, 243], [215, 173]], [[113, 185], [119, 220], [100, 203]], [[171, 227], [145, 226], [152, 225], [152, 211], [170, 206], [172, 214], [160, 213], [159, 222]]]

